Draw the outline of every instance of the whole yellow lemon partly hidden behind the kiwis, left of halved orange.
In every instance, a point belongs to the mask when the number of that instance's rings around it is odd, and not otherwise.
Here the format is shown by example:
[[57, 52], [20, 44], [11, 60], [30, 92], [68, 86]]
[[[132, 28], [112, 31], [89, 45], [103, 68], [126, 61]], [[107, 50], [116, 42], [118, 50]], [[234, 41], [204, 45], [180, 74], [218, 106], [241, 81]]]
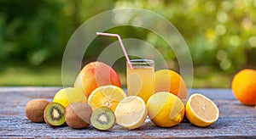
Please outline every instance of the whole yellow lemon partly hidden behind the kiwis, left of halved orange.
[[67, 87], [61, 89], [59, 92], [56, 92], [53, 102], [61, 103], [64, 108], [67, 108], [67, 106], [71, 103], [87, 103], [87, 97], [84, 95], [82, 90]]

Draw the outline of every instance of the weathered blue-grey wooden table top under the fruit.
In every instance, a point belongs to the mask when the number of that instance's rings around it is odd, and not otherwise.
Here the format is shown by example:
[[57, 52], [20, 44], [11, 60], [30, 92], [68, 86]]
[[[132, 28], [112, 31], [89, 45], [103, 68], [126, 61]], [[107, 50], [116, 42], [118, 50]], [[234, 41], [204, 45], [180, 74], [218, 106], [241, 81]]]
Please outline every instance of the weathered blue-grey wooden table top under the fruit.
[[244, 106], [233, 97], [230, 89], [192, 89], [201, 92], [218, 105], [220, 116], [207, 128], [196, 127], [188, 121], [172, 128], [160, 128], [146, 120], [137, 130], [128, 131], [115, 125], [112, 131], [97, 131], [93, 127], [74, 130], [68, 126], [52, 128], [44, 123], [32, 123], [26, 119], [26, 103], [34, 98], [49, 101], [61, 87], [0, 87], [0, 138], [6, 137], [251, 137], [256, 138], [256, 108]]

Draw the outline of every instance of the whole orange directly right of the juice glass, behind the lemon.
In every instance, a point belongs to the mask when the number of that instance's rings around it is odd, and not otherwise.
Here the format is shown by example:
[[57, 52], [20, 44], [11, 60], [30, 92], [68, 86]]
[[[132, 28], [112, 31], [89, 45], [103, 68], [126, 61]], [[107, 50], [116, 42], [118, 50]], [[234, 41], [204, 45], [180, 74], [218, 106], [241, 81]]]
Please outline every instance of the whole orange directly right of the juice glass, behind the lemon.
[[187, 97], [186, 84], [181, 75], [171, 69], [160, 69], [154, 73], [154, 92], [171, 92], [181, 99]]

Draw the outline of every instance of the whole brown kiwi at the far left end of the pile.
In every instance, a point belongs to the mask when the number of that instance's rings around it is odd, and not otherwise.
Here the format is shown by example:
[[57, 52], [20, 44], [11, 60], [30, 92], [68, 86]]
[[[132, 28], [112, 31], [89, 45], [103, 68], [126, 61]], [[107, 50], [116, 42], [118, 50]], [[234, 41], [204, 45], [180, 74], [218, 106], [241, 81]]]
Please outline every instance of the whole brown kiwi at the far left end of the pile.
[[44, 99], [33, 99], [26, 103], [25, 114], [28, 120], [32, 122], [44, 122], [44, 109], [49, 101]]

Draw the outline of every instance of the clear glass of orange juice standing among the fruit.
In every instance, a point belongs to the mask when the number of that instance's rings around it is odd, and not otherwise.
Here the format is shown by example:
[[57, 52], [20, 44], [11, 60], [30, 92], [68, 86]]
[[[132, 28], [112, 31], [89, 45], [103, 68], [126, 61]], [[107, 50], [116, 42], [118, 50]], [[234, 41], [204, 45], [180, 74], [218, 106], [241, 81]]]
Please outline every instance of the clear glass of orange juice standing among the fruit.
[[147, 103], [148, 98], [154, 94], [154, 60], [126, 61], [126, 81], [128, 96], [142, 97]]

